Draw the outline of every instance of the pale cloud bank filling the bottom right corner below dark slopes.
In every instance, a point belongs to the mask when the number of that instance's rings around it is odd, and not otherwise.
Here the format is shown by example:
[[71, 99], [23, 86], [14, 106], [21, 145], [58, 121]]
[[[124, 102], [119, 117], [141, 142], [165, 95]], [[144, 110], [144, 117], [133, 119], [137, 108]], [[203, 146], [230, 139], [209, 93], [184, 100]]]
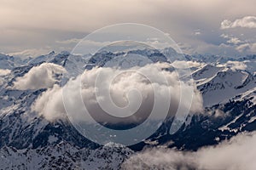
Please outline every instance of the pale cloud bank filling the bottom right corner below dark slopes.
[[247, 133], [195, 152], [166, 148], [148, 149], [125, 161], [123, 168], [254, 170], [256, 167], [255, 142], [256, 133]]

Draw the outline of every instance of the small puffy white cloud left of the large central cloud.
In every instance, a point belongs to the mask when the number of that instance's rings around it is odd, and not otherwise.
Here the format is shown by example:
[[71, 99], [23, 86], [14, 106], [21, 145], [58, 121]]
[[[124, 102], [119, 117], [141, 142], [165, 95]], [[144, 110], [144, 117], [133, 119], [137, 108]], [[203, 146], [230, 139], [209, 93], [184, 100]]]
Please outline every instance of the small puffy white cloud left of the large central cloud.
[[50, 88], [56, 82], [55, 74], [63, 72], [65, 69], [61, 65], [43, 63], [32, 67], [23, 77], [17, 77], [13, 88], [20, 90]]

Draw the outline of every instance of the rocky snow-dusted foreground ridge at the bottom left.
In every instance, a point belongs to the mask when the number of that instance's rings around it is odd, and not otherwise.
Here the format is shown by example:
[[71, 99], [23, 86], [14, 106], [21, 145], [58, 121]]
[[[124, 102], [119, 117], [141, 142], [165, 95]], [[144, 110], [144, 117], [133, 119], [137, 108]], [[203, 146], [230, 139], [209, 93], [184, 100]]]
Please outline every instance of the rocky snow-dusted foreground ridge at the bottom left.
[[132, 150], [121, 145], [105, 145], [96, 150], [79, 149], [61, 142], [40, 149], [0, 149], [1, 169], [119, 169]]

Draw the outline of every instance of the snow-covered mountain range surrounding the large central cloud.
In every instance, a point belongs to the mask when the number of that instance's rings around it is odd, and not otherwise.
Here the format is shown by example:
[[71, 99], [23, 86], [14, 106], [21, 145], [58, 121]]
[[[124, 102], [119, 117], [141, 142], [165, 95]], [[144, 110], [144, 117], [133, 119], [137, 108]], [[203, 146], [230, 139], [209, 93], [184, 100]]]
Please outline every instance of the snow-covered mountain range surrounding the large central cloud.
[[[131, 48], [131, 49], [130, 49]], [[198, 150], [202, 146], [218, 144], [238, 133], [256, 130], [256, 77], [255, 55], [225, 59], [221, 56], [183, 55], [172, 48], [117, 48], [106, 49], [93, 55], [73, 55], [51, 52], [36, 58], [22, 60], [0, 54], [0, 69], [11, 70], [1, 76], [0, 88], [0, 166], [3, 169], [62, 168], [119, 168], [133, 150], [165, 145], [179, 150]], [[123, 50], [123, 51], [122, 51]], [[139, 58], [139, 59], [137, 59]], [[32, 114], [31, 106], [46, 91], [16, 90], [11, 88], [17, 77], [24, 76], [33, 66], [54, 63], [73, 72], [73, 77], [84, 69], [95, 66], [130, 68], [134, 65], [187, 59], [195, 66], [191, 77], [204, 100], [206, 114], [189, 115], [177, 133], [170, 134], [172, 119], [150, 138], [132, 145], [100, 146], [85, 139], [67, 120], [49, 122], [43, 116]], [[232, 69], [228, 61], [244, 62], [247, 69]], [[110, 62], [111, 61], [111, 62]], [[121, 62], [120, 62], [121, 61]], [[221, 65], [220, 65], [221, 64]], [[172, 71], [172, 70], [170, 70]], [[56, 82], [60, 83], [60, 82]], [[29, 116], [28, 116], [29, 115]]]

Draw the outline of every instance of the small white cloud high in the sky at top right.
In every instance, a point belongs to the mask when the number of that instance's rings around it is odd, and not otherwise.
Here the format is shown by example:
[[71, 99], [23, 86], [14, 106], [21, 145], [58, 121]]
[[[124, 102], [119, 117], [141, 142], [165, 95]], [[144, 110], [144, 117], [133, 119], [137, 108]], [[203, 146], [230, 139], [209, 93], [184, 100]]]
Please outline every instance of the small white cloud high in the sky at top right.
[[236, 19], [235, 21], [224, 20], [221, 22], [221, 29], [228, 28], [236, 28], [236, 27], [244, 27], [244, 28], [256, 28], [256, 17], [255, 16], [245, 16], [241, 19]]

